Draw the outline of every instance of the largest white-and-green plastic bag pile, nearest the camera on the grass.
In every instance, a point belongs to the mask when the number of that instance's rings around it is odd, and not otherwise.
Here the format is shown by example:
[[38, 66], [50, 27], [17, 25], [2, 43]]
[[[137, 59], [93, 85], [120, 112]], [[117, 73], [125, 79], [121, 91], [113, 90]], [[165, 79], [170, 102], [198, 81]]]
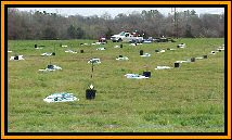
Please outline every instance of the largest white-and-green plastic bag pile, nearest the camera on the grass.
[[53, 93], [53, 94], [43, 99], [43, 101], [48, 102], [48, 103], [51, 103], [51, 102], [73, 102], [76, 100], [79, 101], [79, 99], [76, 98], [73, 93], [67, 93], [67, 92]]

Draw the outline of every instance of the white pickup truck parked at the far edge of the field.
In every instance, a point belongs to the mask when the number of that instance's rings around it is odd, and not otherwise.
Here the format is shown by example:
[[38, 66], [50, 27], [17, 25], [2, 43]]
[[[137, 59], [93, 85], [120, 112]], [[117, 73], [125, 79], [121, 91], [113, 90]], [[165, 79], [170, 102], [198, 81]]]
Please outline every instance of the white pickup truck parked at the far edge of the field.
[[118, 35], [111, 37], [113, 42], [143, 42], [143, 37], [137, 35], [137, 33], [130, 34], [128, 31], [121, 31]]

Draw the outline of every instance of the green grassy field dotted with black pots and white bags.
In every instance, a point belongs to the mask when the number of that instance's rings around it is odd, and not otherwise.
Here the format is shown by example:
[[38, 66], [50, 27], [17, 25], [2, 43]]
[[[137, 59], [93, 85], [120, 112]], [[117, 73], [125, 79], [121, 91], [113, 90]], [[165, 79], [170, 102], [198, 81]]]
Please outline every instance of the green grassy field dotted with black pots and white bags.
[[[177, 42], [144, 43], [131, 47], [117, 42], [80, 46], [94, 40], [17, 40], [9, 41], [9, 58], [24, 55], [24, 61], [9, 61], [9, 131], [10, 132], [223, 132], [224, 131], [224, 52], [208, 59], [182, 63], [176, 61], [209, 54], [224, 43], [223, 38], [179, 39]], [[77, 54], [65, 53], [72, 46]], [[185, 49], [177, 44], [186, 43]], [[44, 44], [36, 50], [34, 44]], [[55, 56], [40, 56], [53, 52]], [[105, 47], [105, 51], [96, 51]], [[155, 49], [176, 51], [156, 53]], [[85, 53], [80, 53], [85, 50]], [[141, 58], [139, 51], [151, 53]], [[129, 61], [116, 61], [119, 54]], [[93, 79], [88, 60], [100, 58]], [[50, 63], [63, 69], [39, 73]], [[146, 68], [145, 68], [146, 66]], [[127, 73], [152, 72], [150, 79], [127, 79]], [[86, 100], [86, 89], [93, 82], [95, 100]], [[79, 101], [47, 103], [55, 92], [73, 92]]]

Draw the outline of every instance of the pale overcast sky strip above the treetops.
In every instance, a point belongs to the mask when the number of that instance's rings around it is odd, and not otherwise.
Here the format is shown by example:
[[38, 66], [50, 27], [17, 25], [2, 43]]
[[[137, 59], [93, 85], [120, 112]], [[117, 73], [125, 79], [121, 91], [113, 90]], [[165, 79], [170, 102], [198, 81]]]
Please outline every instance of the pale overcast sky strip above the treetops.
[[[82, 15], [91, 16], [98, 15], [101, 16], [104, 13], [111, 14], [113, 17], [119, 13], [131, 14], [133, 11], [141, 12], [143, 10], [158, 10], [162, 14], [167, 15], [171, 13], [173, 9], [171, 8], [17, 8], [20, 11], [46, 11], [48, 13], [57, 13], [64, 16], [67, 15]], [[202, 13], [211, 13], [211, 14], [221, 14], [224, 12], [224, 8], [178, 8], [178, 12], [185, 10], [195, 10], [197, 14]]]

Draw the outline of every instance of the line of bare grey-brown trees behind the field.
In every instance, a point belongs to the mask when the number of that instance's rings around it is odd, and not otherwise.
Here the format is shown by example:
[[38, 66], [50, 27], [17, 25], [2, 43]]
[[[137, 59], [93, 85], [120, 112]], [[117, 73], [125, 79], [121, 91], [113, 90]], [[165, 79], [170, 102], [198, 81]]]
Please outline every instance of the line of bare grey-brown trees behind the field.
[[164, 15], [157, 10], [120, 13], [115, 17], [69, 15], [8, 9], [9, 39], [99, 39], [121, 30], [144, 37], [224, 37], [224, 14], [197, 14], [194, 10]]

